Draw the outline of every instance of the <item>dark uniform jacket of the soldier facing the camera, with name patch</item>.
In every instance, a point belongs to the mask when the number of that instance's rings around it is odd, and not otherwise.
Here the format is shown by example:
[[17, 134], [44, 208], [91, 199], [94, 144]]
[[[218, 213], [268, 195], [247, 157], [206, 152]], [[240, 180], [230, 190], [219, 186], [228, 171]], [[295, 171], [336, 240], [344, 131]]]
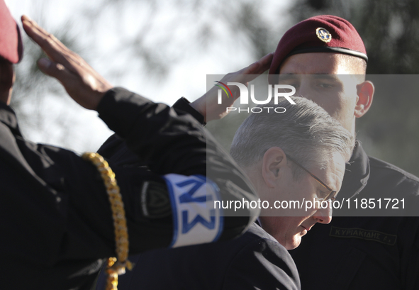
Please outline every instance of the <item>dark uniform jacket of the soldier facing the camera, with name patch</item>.
[[[335, 216], [317, 225], [291, 250], [305, 290], [418, 290], [419, 179], [392, 164], [368, 157], [358, 143], [337, 198], [391, 198], [381, 217]], [[393, 216], [405, 199], [406, 217]], [[393, 199], [398, 199], [398, 204]], [[347, 205], [347, 203], [344, 203]], [[371, 203], [372, 206], [372, 203]], [[394, 206], [394, 208], [393, 208]], [[413, 212], [415, 211], [415, 213]], [[371, 213], [359, 209], [357, 215]], [[376, 212], [375, 212], [376, 213]], [[416, 215], [416, 216], [414, 216]]]

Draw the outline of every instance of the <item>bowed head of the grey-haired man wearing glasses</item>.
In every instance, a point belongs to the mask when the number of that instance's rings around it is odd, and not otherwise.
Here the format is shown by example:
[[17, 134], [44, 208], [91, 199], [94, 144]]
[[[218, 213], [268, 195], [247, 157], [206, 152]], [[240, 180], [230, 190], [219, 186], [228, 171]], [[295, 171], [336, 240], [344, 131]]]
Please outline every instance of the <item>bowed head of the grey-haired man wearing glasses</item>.
[[[261, 199], [269, 202], [262, 209], [262, 228], [287, 250], [298, 247], [315, 223], [331, 221], [330, 206], [300, 211], [294, 205], [335, 199], [354, 142], [323, 108], [307, 99], [293, 99], [296, 105], [284, 100], [269, 104], [273, 107], [269, 113], [250, 115], [230, 148]], [[276, 106], [286, 112], [276, 113]], [[289, 203], [276, 209], [279, 201]]]

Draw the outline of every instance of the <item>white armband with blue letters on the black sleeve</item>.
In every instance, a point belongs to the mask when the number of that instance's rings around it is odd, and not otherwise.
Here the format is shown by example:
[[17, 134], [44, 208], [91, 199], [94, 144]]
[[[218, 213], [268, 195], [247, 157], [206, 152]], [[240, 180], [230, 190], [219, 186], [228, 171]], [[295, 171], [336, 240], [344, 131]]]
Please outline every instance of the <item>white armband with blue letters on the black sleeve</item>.
[[215, 242], [223, 231], [223, 212], [214, 207], [220, 201], [218, 186], [200, 175], [164, 175], [173, 213], [170, 247]]

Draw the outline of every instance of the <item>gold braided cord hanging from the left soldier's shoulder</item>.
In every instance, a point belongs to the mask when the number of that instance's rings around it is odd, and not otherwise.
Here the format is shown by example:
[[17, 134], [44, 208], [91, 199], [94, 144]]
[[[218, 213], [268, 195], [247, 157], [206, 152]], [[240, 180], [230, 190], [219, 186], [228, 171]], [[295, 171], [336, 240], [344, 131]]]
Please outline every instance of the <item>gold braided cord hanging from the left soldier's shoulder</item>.
[[84, 160], [92, 162], [99, 170], [106, 186], [109, 201], [111, 202], [113, 227], [115, 228], [116, 257], [108, 259], [106, 274], [108, 275], [106, 290], [118, 289], [118, 274], [125, 274], [125, 267], [129, 270], [133, 264], [128, 260], [128, 229], [123, 209], [122, 196], [119, 186], [116, 184], [115, 173], [113, 173], [108, 162], [98, 153], [86, 152], [83, 154]]

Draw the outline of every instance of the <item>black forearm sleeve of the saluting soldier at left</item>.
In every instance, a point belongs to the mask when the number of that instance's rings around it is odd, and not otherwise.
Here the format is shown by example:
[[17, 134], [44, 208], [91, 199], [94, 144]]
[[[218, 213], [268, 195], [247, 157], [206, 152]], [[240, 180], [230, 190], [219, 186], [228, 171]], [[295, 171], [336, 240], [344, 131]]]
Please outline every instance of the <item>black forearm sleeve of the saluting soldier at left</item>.
[[[154, 104], [125, 89], [108, 91], [98, 111], [153, 174], [201, 174], [216, 183], [225, 201], [255, 199], [244, 172], [189, 113]], [[258, 213], [257, 208], [225, 210], [220, 240], [242, 233]]]

